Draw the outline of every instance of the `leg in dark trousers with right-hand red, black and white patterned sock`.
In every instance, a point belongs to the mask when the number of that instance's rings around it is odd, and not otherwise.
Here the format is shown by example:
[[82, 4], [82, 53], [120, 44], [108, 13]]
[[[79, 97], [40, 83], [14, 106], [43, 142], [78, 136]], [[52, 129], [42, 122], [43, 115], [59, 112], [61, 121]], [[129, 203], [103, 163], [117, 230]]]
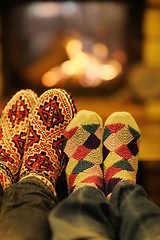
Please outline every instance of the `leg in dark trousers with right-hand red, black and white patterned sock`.
[[4, 239], [33, 240], [50, 236], [47, 216], [55, 205], [56, 181], [63, 168], [63, 132], [75, 111], [73, 100], [65, 90], [51, 89], [41, 95], [30, 113], [20, 181], [3, 196]]

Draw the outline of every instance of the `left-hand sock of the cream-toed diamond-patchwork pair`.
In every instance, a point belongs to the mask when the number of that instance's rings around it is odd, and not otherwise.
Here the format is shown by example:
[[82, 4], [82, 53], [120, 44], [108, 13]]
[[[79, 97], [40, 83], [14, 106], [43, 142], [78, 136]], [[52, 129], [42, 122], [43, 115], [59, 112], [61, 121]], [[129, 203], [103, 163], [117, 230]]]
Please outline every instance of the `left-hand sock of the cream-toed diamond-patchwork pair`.
[[83, 186], [93, 186], [103, 191], [101, 140], [102, 119], [95, 112], [78, 112], [64, 132], [69, 193]]

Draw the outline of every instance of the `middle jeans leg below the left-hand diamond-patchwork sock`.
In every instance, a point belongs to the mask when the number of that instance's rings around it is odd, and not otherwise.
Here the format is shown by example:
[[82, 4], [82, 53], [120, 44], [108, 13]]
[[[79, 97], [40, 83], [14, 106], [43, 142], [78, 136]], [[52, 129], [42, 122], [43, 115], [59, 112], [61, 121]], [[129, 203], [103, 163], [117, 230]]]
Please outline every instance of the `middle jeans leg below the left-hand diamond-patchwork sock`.
[[116, 239], [119, 217], [101, 191], [86, 186], [59, 203], [49, 222], [52, 240], [103, 240]]

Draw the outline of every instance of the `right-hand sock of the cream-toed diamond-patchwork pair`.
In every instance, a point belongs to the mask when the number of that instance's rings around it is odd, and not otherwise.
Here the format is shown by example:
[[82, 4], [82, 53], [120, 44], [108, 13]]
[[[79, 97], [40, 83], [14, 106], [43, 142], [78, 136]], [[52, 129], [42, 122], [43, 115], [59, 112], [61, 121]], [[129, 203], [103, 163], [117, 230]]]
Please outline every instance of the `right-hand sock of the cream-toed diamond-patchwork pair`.
[[103, 133], [106, 195], [122, 180], [136, 183], [139, 143], [139, 127], [129, 113], [115, 112], [108, 117]]

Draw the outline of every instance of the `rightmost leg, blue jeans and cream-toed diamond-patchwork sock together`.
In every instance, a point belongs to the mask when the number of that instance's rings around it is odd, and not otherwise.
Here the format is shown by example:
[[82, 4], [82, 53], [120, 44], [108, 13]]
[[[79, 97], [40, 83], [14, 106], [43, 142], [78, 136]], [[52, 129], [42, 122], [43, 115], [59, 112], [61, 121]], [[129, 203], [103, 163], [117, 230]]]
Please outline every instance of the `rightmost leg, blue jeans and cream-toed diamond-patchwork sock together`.
[[121, 216], [120, 239], [160, 239], [160, 209], [136, 185], [140, 133], [126, 112], [111, 114], [103, 135], [105, 193]]

